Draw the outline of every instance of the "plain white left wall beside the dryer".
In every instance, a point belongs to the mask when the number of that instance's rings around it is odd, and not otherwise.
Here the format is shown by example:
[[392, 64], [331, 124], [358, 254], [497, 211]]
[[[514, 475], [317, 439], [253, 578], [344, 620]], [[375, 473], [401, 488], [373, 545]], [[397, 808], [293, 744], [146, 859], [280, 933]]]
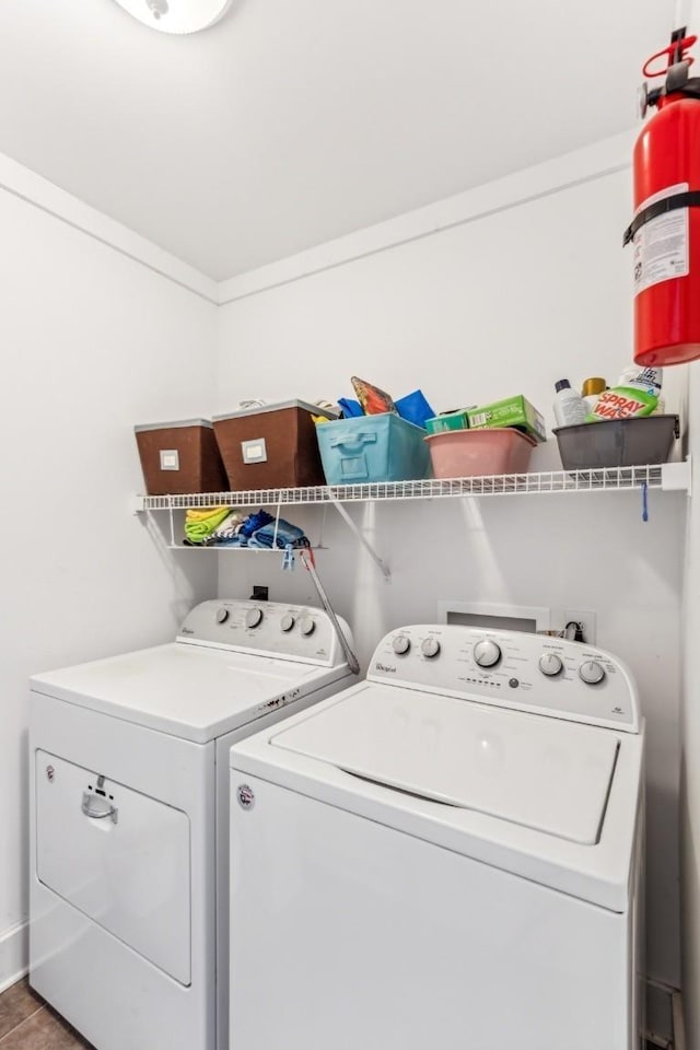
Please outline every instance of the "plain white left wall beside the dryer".
[[215, 588], [210, 562], [163, 553], [130, 495], [133, 424], [211, 408], [217, 307], [128, 231], [16, 165], [12, 184], [0, 189], [0, 989], [26, 962], [28, 675], [172, 638]]

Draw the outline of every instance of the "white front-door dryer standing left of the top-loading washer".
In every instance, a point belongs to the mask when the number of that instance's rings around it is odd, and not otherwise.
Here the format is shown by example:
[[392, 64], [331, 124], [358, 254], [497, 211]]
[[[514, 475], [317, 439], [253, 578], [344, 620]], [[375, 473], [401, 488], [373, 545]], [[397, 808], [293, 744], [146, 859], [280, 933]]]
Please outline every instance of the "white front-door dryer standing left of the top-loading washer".
[[350, 680], [326, 612], [233, 600], [32, 679], [30, 982], [98, 1050], [228, 1048], [229, 749]]

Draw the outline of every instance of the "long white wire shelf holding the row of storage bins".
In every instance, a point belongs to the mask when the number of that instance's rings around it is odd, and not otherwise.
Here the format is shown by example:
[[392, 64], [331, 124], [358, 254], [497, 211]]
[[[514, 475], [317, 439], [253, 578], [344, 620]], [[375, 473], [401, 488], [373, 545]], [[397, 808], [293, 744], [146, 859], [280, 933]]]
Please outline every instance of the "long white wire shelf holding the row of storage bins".
[[173, 511], [205, 506], [285, 506], [359, 503], [382, 500], [434, 500], [464, 497], [535, 495], [551, 492], [619, 492], [629, 489], [690, 492], [690, 462], [598, 470], [546, 470], [480, 478], [428, 481], [382, 481], [370, 485], [248, 489], [242, 492], [194, 492], [186, 495], [140, 495], [137, 511]]

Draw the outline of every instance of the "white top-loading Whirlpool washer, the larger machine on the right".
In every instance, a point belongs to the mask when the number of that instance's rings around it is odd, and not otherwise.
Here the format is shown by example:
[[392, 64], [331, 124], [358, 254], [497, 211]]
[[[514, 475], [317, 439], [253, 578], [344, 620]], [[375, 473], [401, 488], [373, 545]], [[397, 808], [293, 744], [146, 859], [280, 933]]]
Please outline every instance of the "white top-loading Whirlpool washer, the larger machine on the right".
[[235, 1050], [639, 1050], [643, 728], [598, 649], [407, 627], [231, 751]]

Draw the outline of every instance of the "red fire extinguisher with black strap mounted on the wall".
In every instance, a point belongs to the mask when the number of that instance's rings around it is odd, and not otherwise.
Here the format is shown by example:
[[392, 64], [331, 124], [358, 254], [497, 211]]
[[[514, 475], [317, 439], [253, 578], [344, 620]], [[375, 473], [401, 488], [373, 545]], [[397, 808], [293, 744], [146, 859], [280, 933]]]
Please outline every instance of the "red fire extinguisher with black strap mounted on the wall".
[[[700, 78], [686, 57], [696, 36], [676, 30], [644, 65], [666, 78], [641, 89], [641, 112], [657, 113], [634, 144], [634, 218], [623, 243], [634, 252], [634, 361], [681, 364], [700, 358]], [[658, 59], [665, 67], [654, 69]]]

